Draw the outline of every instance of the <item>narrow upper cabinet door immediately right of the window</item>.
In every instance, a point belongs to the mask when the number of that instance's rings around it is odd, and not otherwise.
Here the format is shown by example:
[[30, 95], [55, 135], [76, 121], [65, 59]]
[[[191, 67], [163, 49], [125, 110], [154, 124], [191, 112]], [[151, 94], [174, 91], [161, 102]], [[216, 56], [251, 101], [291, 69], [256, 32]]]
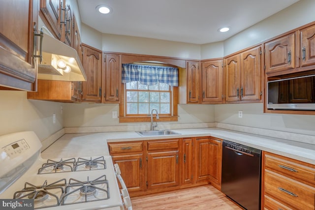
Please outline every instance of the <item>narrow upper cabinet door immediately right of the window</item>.
[[187, 103], [199, 103], [199, 62], [187, 61]]

